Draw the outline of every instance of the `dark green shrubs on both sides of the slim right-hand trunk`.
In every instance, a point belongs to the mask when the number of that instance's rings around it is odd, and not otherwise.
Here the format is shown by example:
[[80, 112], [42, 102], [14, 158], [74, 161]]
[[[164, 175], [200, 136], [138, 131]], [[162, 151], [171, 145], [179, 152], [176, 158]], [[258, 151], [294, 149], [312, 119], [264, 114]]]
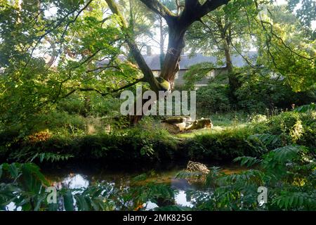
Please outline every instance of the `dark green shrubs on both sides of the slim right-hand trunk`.
[[295, 105], [316, 101], [316, 90], [295, 92], [284, 79], [277, 79], [269, 71], [243, 68], [235, 70], [241, 84], [231, 101], [227, 77], [211, 79], [207, 86], [197, 89], [197, 113], [229, 113], [242, 110], [246, 113], [273, 115], [273, 111], [290, 110]]

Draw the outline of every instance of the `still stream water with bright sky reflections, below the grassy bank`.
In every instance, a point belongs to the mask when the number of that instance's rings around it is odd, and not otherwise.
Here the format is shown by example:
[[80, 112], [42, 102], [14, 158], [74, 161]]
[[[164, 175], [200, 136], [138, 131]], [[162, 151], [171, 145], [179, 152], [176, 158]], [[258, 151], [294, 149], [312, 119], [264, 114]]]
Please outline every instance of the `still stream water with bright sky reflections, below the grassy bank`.
[[[135, 182], [134, 179], [136, 176], [143, 175], [141, 172], [109, 172], [104, 169], [95, 169], [91, 171], [80, 170], [76, 172], [58, 172], [57, 175], [47, 172], [46, 176], [51, 180], [51, 184], [56, 186], [58, 189], [65, 188], [87, 188], [89, 185], [97, 184], [104, 182], [112, 187], [117, 187], [120, 190], [129, 189], [131, 186], [145, 186], [149, 183], [154, 184], [168, 184], [176, 190], [175, 193], [175, 203], [183, 207], [192, 207], [195, 203], [195, 195], [192, 195], [192, 192], [203, 192], [211, 193], [210, 189], [205, 189], [203, 182], [191, 182], [186, 179], [176, 178], [176, 174], [181, 171], [183, 167], [169, 167], [164, 168], [164, 170], [152, 170], [145, 171], [145, 180], [140, 180]], [[223, 167], [222, 172], [225, 174], [238, 173], [244, 170], [238, 166], [228, 166]], [[63, 175], [61, 175], [63, 174]], [[159, 203], [158, 203], [159, 204]], [[143, 204], [143, 209], [153, 210], [155, 207], [158, 207], [156, 203], [148, 201]]]

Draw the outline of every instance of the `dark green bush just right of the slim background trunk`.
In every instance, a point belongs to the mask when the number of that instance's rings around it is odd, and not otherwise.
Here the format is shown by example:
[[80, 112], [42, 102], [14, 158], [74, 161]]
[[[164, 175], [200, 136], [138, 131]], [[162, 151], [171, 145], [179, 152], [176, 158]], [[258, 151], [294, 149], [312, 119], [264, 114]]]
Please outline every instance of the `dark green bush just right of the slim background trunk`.
[[251, 113], [267, 113], [274, 108], [291, 109], [291, 105], [305, 105], [316, 101], [316, 90], [294, 92], [284, 80], [276, 80], [268, 71], [242, 71], [242, 86], [237, 89], [237, 108]]

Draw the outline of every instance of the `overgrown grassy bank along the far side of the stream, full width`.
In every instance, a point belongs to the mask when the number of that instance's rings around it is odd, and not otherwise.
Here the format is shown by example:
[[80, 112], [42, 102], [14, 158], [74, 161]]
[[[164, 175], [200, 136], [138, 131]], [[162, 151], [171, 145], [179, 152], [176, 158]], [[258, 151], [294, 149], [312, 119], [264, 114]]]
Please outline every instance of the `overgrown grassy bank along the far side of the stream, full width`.
[[[242, 155], [260, 156], [269, 150], [298, 144], [315, 149], [316, 113], [285, 112], [235, 120], [213, 129], [169, 134], [159, 122], [97, 134], [54, 134], [44, 130], [22, 139], [1, 134], [0, 158], [8, 162], [62, 160], [151, 163], [170, 160], [229, 161]], [[222, 121], [223, 123], [223, 121]]]

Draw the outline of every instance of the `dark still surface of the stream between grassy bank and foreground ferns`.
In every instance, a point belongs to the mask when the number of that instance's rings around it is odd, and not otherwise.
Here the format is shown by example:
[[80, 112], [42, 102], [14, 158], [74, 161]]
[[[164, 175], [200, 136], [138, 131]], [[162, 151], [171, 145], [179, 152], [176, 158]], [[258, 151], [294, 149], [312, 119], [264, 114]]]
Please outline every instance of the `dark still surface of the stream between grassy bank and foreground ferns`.
[[[91, 165], [91, 167], [92, 166], [93, 165]], [[208, 165], [208, 167], [212, 166], [214, 165]], [[168, 165], [166, 167], [147, 169], [145, 171], [131, 171], [126, 169], [117, 171], [117, 169], [102, 169], [93, 167], [93, 169], [77, 168], [46, 170], [44, 171], [44, 174], [46, 175], [46, 178], [51, 181], [51, 184], [53, 186], [57, 186], [58, 188], [87, 188], [90, 185], [100, 182], [106, 182], [112, 186], [124, 188], [131, 185], [131, 180], [134, 177], [140, 174], [146, 174], [147, 179], [140, 181], [136, 185], [145, 185], [147, 183], [170, 185], [171, 188], [177, 190], [175, 195], [176, 205], [192, 207], [192, 201], [194, 201], [194, 198], [188, 198], [187, 191], [210, 192], [211, 190], [205, 188], [202, 182], [188, 182], [185, 179], [176, 178], [178, 172], [185, 169], [185, 167], [186, 165]], [[222, 172], [225, 174], [238, 173], [244, 170], [238, 165], [223, 165], [220, 167]], [[151, 202], [145, 203], [144, 206], [147, 210], [157, 207], [155, 203]]]

